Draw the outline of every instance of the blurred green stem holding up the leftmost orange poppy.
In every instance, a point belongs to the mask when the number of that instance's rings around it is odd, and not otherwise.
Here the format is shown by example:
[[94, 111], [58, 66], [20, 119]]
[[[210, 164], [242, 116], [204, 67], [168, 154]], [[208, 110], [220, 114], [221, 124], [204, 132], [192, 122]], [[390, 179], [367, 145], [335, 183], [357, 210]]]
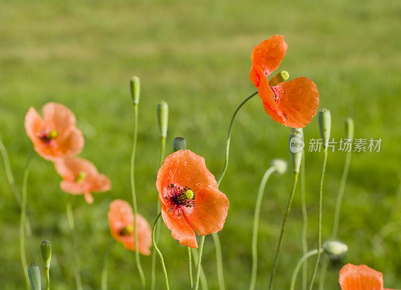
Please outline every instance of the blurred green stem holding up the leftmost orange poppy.
[[21, 203], [21, 219], [20, 219], [20, 252], [21, 252], [21, 263], [25, 275], [25, 281], [27, 288], [30, 287], [28, 272], [27, 272], [27, 255], [25, 253], [25, 219], [27, 216], [27, 198], [28, 198], [28, 177], [29, 177], [29, 165], [31, 164], [32, 157], [35, 151], [29, 154], [27, 163], [25, 164], [24, 181], [22, 185], [22, 203]]

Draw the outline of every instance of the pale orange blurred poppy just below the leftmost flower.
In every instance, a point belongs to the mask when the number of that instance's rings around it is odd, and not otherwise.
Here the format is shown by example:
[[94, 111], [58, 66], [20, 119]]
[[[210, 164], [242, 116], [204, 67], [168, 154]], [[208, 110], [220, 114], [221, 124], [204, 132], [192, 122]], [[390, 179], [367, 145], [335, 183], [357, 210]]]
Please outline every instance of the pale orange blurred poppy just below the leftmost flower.
[[110, 180], [100, 174], [95, 165], [82, 158], [62, 159], [55, 162], [56, 171], [63, 177], [60, 187], [71, 194], [83, 194], [88, 203], [93, 202], [91, 192], [107, 191]]

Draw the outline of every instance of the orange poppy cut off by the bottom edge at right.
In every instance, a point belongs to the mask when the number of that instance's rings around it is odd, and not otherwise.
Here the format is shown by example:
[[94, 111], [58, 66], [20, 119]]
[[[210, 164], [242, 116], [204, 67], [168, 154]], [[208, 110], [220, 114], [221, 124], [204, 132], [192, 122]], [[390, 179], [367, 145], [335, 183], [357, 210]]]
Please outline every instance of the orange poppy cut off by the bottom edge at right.
[[366, 265], [346, 264], [338, 282], [341, 290], [394, 290], [383, 288], [383, 274]]

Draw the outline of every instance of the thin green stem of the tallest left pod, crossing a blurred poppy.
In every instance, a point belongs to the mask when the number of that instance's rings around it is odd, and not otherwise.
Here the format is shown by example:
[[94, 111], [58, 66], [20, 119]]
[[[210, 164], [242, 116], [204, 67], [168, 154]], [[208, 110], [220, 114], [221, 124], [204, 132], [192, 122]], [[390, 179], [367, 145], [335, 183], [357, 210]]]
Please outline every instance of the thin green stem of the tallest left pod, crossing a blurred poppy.
[[[132, 154], [131, 154], [131, 193], [132, 193], [132, 208], [134, 211], [134, 216], [136, 219], [136, 215], [138, 214], [138, 206], [136, 203], [136, 193], [135, 193], [135, 151], [136, 151], [136, 140], [138, 137], [138, 104], [134, 103], [134, 137], [133, 137], [133, 142], [132, 142]], [[141, 260], [139, 257], [139, 249], [138, 249], [138, 234], [136, 231], [136, 222], [134, 226], [134, 244], [135, 244], [135, 261], [136, 261], [136, 267], [138, 268], [139, 276], [141, 279], [141, 284], [142, 284], [142, 289], [145, 289], [146, 281], [145, 281], [145, 275], [142, 270], [141, 266]]]

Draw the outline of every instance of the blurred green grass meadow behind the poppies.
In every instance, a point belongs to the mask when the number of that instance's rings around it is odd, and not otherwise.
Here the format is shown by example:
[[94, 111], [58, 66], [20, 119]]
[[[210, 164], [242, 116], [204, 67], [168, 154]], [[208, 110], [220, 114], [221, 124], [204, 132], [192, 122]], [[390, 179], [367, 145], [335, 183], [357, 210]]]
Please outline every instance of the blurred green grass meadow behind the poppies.
[[[91, 160], [112, 181], [112, 190], [95, 193], [87, 204], [73, 197], [78, 230], [79, 265], [85, 289], [100, 288], [101, 264], [111, 239], [107, 211], [111, 200], [131, 201], [129, 166], [133, 110], [129, 79], [141, 79], [136, 189], [139, 212], [153, 223], [155, 178], [159, 160], [156, 104], [169, 105], [166, 154], [183, 136], [187, 148], [206, 159], [218, 176], [224, 163], [229, 119], [255, 88], [249, 80], [252, 48], [282, 34], [288, 51], [280, 69], [290, 78], [311, 78], [320, 92], [320, 107], [330, 109], [332, 137], [344, 137], [343, 122], [355, 121], [355, 137], [382, 139], [381, 150], [352, 155], [341, 209], [339, 240], [349, 252], [331, 265], [325, 289], [338, 289], [338, 271], [347, 262], [383, 272], [384, 286], [401, 287], [401, 2], [398, 0], [91, 0], [0, 1], [0, 136], [10, 154], [21, 189], [24, 164], [32, 142], [24, 116], [50, 101], [68, 106], [85, 136], [80, 157]], [[265, 114], [258, 96], [239, 112], [233, 128], [230, 163], [220, 189], [230, 208], [219, 233], [226, 287], [246, 289], [251, 274], [253, 211], [259, 182], [274, 158], [289, 160], [286, 128]], [[304, 129], [319, 138], [317, 118]], [[308, 245], [317, 244], [317, 198], [322, 153], [306, 152], [309, 213]], [[324, 182], [323, 240], [332, 228], [334, 204], [345, 153], [329, 152]], [[257, 288], [267, 287], [282, 217], [293, 175], [268, 181], [259, 227]], [[28, 185], [28, 215], [35, 255], [42, 267], [43, 239], [52, 242], [54, 289], [75, 287], [71, 237], [66, 217], [67, 194], [51, 162], [35, 155]], [[19, 251], [20, 209], [0, 166], [1, 288], [24, 288]], [[384, 243], [375, 234], [388, 223]], [[289, 287], [302, 255], [300, 191], [291, 210], [276, 289]], [[161, 225], [159, 247], [171, 289], [188, 288], [185, 247]], [[141, 256], [150, 285], [150, 256]], [[310, 263], [312, 264], [312, 258]], [[312, 265], [310, 264], [310, 268]], [[206, 238], [203, 266], [210, 289], [217, 289], [213, 239]], [[44, 274], [42, 267], [42, 274]], [[44, 280], [44, 275], [42, 275]], [[300, 278], [298, 279], [300, 282]], [[137, 289], [134, 253], [115, 244], [109, 259], [109, 287]], [[157, 263], [157, 288], [164, 281]]]

